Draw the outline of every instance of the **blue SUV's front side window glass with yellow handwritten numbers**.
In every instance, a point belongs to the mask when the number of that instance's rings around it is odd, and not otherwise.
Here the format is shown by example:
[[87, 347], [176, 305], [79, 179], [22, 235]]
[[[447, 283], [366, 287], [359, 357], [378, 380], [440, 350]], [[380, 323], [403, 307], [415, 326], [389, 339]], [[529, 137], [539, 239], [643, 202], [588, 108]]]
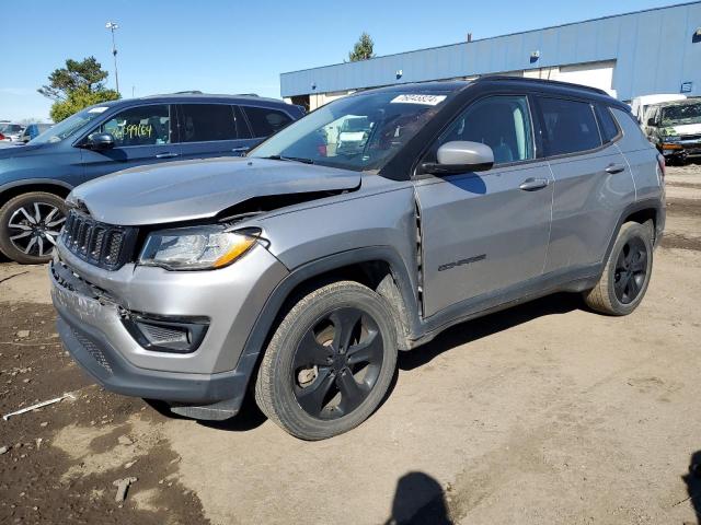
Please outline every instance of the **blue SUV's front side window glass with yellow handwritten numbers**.
[[170, 144], [170, 106], [158, 104], [130, 107], [104, 121], [92, 132], [112, 133], [115, 148]]

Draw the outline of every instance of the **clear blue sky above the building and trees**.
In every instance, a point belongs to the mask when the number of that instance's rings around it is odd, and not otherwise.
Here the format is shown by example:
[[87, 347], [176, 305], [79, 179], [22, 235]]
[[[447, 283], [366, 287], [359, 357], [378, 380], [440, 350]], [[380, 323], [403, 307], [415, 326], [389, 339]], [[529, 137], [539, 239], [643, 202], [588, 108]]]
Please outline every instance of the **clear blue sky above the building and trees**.
[[47, 118], [36, 93], [67, 58], [93, 55], [123, 96], [202, 90], [279, 97], [279, 73], [343, 61], [363, 31], [378, 55], [680, 3], [674, 0], [0, 0], [0, 118]]

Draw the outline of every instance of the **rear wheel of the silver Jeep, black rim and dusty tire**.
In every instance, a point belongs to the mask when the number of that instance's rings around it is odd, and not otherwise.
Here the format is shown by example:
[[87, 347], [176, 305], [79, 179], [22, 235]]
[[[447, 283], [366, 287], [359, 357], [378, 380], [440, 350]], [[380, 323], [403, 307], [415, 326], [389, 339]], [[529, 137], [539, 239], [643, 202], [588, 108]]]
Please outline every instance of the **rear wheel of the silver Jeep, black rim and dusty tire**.
[[641, 303], [653, 269], [652, 221], [627, 222], [616, 238], [599, 282], [584, 293], [587, 305], [602, 314], [628, 315]]

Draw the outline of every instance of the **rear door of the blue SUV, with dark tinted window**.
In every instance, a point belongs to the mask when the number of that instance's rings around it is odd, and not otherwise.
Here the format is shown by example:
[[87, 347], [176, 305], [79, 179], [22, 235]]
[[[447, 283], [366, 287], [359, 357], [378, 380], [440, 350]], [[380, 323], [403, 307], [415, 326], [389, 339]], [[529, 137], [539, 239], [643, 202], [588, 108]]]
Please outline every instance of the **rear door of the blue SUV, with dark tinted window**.
[[232, 104], [179, 104], [181, 159], [240, 156], [252, 145], [251, 131]]

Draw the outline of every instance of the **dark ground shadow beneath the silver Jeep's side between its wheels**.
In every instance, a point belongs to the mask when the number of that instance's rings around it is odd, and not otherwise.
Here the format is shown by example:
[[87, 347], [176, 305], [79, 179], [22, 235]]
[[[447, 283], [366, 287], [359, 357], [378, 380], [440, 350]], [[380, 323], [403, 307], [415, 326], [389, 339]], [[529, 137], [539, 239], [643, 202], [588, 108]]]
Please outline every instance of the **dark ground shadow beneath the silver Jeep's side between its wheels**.
[[433, 341], [409, 352], [400, 352], [399, 369], [414, 370], [429, 363], [441, 353], [461, 345], [476, 341], [502, 330], [528, 323], [544, 315], [566, 314], [584, 307], [577, 293], [556, 293], [536, 301], [461, 323], [440, 334]]

